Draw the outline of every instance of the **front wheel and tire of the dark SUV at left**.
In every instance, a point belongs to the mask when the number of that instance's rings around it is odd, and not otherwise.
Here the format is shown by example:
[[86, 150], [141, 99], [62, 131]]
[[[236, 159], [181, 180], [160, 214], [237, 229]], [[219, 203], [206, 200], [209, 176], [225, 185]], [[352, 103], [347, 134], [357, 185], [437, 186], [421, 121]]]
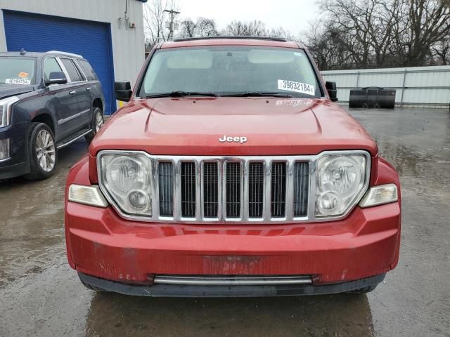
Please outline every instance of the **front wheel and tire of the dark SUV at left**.
[[30, 173], [24, 178], [46, 179], [55, 174], [58, 150], [51, 128], [44, 123], [32, 123], [28, 136], [28, 158]]

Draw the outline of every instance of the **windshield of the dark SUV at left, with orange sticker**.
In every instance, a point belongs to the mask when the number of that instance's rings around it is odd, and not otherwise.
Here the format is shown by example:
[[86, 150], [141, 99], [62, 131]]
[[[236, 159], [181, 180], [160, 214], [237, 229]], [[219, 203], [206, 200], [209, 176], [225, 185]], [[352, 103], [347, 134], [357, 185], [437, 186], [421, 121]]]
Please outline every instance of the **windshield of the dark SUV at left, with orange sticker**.
[[34, 84], [35, 58], [0, 57], [0, 84]]

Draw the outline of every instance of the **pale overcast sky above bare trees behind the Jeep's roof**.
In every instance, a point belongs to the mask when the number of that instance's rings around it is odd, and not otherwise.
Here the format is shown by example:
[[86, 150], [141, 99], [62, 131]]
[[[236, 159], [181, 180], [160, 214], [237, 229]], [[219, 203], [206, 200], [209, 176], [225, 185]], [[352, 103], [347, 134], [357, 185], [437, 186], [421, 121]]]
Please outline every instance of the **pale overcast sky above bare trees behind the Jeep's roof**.
[[[170, 0], [169, 0], [170, 3]], [[212, 18], [223, 29], [232, 20], [261, 20], [267, 27], [283, 27], [294, 36], [309, 27], [319, 14], [315, 0], [175, 0], [181, 18]]]

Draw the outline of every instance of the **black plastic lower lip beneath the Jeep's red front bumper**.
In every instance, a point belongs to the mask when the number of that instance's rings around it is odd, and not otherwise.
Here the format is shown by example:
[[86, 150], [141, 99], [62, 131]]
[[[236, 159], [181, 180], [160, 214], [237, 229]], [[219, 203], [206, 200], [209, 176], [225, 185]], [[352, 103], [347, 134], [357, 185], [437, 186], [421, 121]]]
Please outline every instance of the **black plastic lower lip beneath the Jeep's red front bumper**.
[[301, 296], [344, 293], [375, 286], [383, 282], [385, 274], [357, 279], [339, 284], [314, 286], [311, 284], [277, 286], [179, 286], [155, 284], [125, 284], [79, 273], [84, 284], [101, 291], [113, 291], [131, 296], [150, 297], [261, 297], [261, 296]]

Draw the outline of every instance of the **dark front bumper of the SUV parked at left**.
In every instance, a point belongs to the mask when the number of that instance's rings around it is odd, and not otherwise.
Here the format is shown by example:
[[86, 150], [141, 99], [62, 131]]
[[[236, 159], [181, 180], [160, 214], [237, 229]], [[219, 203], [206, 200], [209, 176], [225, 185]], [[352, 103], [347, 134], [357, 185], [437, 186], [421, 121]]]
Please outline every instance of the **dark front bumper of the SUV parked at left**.
[[28, 163], [27, 122], [0, 128], [0, 140], [10, 139], [10, 157], [0, 161], [0, 179], [22, 176], [30, 171]]

